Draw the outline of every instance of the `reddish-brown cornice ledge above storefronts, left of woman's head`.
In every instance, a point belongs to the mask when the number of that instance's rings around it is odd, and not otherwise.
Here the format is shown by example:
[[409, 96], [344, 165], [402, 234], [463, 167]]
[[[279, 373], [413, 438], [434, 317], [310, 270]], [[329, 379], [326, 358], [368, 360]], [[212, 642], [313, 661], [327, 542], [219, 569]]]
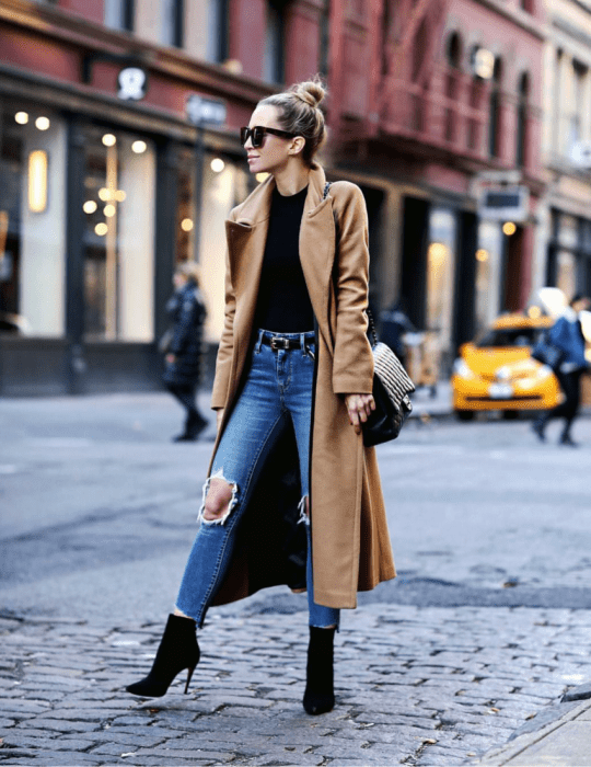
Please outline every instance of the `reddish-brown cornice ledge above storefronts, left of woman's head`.
[[192, 58], [181, 49], [154, 45], [129, 32], [111, 30], [58, 8], [31, 0], [2, 0], [0, 22], [49, 37], [83, 54], [135, 55], [151, 72], [185, 80], [196, 89], [256, 104], [275, 89], [254, 78]]

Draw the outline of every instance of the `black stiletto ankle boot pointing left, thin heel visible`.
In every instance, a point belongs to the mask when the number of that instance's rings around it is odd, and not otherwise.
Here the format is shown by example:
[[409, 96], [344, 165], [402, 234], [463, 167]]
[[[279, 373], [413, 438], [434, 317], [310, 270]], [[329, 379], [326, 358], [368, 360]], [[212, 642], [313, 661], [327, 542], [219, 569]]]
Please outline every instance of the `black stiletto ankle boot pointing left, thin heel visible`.
[[195, 666], [199, 663], [199, 645], [195, 636], [195, 621], [190, 618], [170, 615], [160, 641], [152, 669], [140, 682], [126, 687], [131, 695], [160, 698], [166, 694], [174, 677], [188, 668], [185, 695]]

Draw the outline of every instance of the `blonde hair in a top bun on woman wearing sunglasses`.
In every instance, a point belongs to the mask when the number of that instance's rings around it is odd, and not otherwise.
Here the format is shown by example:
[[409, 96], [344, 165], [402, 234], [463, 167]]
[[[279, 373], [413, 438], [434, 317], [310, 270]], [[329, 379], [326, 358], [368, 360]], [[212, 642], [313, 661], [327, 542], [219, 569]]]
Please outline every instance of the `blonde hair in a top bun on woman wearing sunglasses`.
[[305, 138], [302, 159], [312, 164], [314, 154], [326, 140], [326, 125], [320, 104], [326, 96], [326, 85], [316, 75], [313, 80], [299, 82], [282, 93], [258, 102], [258, 106], [276, 106], [281, 128]]

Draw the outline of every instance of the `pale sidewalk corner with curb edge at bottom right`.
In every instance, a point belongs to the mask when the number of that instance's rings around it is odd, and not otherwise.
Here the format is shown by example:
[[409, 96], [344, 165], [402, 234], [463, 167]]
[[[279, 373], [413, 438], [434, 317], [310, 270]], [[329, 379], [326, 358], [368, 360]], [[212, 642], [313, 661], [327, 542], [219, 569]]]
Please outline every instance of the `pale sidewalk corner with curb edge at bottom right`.
[[591, 700], [580, 702], [576, 699], [582, 695], [591, 696], [590, 685], [575, 688], [565, 696], [565, 702], [542, 709], [506, 745], [470, 764], [482, 767], [589, 767]]

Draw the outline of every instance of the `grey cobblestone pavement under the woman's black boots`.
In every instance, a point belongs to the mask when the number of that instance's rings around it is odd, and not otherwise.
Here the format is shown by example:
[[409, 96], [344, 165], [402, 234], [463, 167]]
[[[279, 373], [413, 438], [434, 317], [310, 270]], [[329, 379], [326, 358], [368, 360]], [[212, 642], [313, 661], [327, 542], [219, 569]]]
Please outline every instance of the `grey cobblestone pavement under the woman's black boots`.
[[135, 699], [162, 626], [0, 620], [7, 765], [460, 765], [591, 677], [591, 611], [367, 605], [308, 717], [306, 615], [210, 614], [189, 695]]

